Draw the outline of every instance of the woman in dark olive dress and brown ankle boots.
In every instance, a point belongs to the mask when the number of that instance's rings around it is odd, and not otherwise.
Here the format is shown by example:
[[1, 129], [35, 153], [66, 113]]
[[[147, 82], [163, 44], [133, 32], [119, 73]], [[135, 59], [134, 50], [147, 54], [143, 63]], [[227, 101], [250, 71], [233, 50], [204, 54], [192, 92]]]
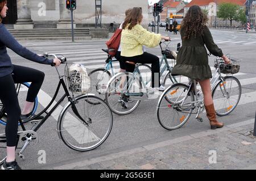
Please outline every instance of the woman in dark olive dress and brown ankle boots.
[[[210, 127], [211, 129], [216, 129], [222, 128], [224, 124], [219, 123], [216, 119], [212, 91], [210, 89], [212, 71], [208, 65], [208, 54], [205, 45], [210, 53], [214, 56], [222, 57], [226, 64], [229, 64], [230, 60], [224, 56], [222, 50], [214, 43], [212, 35], [206, 26], [207, 22], [208, 18], [199, 6], [190, 7], [181, 23], [180, 35], [183, 46], [177, 54], [177, 64], [172, 70], [172, 75], [184, 75], [200, 83]], [[196, 94], [195, 89], [192, 89], [192, 91]]]

